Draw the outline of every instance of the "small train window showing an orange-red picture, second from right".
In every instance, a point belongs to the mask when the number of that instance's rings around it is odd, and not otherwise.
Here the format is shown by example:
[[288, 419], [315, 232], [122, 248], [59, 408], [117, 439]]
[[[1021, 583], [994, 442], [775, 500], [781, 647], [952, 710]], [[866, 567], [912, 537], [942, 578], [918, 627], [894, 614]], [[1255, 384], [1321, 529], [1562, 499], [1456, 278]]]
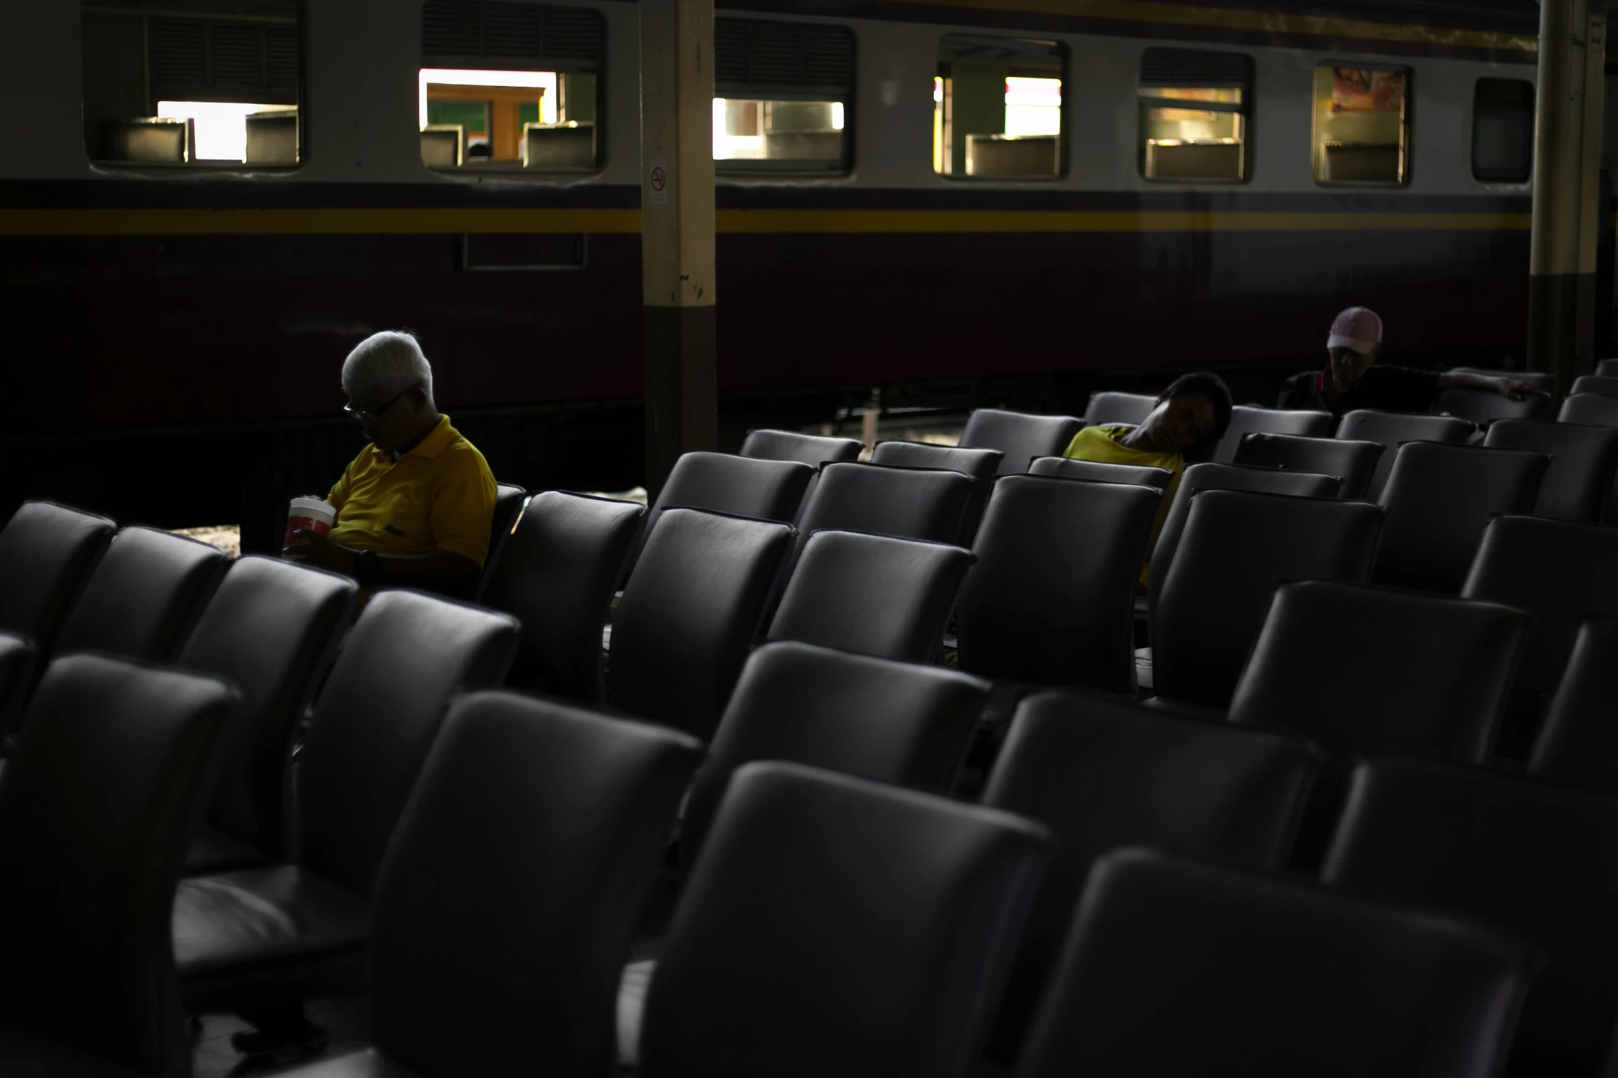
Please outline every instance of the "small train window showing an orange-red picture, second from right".
[[1409, 179], [1409, 82], [1408, 68], [1315, 68], [1315, 183]]

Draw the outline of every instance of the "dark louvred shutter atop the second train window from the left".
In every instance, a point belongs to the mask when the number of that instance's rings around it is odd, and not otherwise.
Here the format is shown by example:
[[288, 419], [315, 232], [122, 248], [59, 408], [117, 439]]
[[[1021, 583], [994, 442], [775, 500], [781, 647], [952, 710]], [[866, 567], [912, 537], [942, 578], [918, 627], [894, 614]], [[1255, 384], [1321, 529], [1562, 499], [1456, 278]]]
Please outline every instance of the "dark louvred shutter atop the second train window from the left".
[[570, 69], [602, 60], [602, 18], [589, 8], [503, 0], [427, 0], [422, 63], [434, 68]]

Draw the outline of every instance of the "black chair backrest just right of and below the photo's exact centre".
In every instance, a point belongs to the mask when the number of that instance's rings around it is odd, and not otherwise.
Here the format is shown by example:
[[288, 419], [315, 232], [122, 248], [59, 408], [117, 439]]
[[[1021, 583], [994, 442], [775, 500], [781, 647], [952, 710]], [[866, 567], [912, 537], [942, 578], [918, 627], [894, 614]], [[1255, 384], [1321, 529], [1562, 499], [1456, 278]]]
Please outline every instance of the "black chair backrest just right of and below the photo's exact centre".
[[972, 561], [972, 551], [943, 543], [815, 532], [765, 638], [927, 663]]

